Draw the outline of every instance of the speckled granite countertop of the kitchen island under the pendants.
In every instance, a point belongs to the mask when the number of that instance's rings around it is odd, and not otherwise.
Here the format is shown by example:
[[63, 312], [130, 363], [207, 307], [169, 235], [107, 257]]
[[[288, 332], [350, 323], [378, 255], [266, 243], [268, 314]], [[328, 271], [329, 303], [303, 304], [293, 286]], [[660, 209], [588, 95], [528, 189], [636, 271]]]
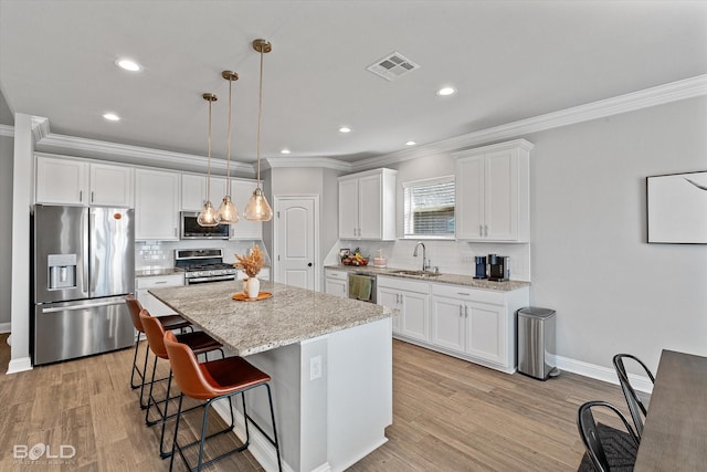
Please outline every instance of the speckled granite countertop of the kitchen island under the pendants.
[[149, 293], [239, 356], [262, 353], [328, 333], [389, 318], [391, 310], [291, 285], [261, 281], [256, 302], [234, 301], [242, 282], [221, 282]]

